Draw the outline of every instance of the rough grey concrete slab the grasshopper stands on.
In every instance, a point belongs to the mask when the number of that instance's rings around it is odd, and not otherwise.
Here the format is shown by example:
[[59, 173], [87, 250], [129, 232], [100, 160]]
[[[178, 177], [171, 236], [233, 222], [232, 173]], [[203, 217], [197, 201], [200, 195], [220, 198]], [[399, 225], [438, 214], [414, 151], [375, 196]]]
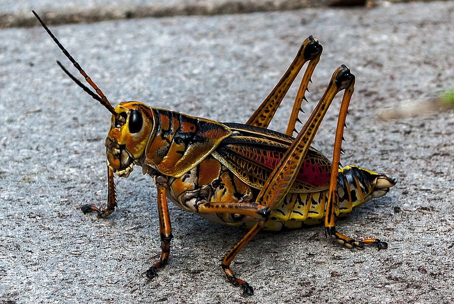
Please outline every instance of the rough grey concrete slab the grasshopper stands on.
[[[114, 104], [221, 121], [245, 121], [309, 34], [324, 53], [306, 113], [334, 69], [351, 67], [342, 162], [399, 183], [337, 226], [389, 249], [340, 248], [320, 227], [260, 233], [232, 265], [254, 287], [249, 298], [219, 267], [245, 232], [173, 205], [169, 265], [145, 279], [160, 242], [156, 191], [140, 170], [117, 179], [108, 219], [77, 210], [105, 204], [109, 113], [57, 67], [70, 64], [41, 27], [0, 30], [0, 303], [452, 303], [454, 109], [382, 113], [454, 87], [453, 11], [453, 1], [413, 2], [52, 27]], [[272, 128], [285, 130], [291, 103]], [[327, 155], [336, 112], [314, 143]]]

